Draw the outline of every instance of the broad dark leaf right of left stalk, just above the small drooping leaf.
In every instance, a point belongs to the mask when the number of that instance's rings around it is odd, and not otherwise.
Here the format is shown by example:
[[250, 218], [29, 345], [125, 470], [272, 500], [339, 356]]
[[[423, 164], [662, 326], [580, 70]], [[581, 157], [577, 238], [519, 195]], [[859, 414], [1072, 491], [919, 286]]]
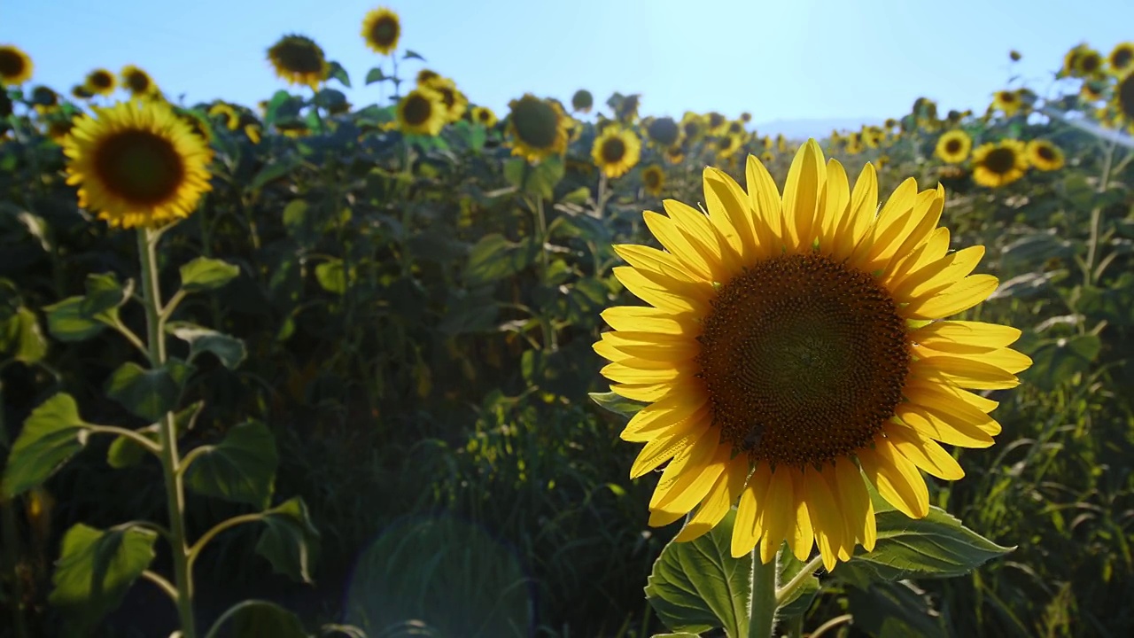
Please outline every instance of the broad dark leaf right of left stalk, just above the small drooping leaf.
[[279, 454], [268, 426], [235, 426], [217, 445], [206, 446], [185, 472], [185, 485], [205, 496], [266, 507], [276, 486]]

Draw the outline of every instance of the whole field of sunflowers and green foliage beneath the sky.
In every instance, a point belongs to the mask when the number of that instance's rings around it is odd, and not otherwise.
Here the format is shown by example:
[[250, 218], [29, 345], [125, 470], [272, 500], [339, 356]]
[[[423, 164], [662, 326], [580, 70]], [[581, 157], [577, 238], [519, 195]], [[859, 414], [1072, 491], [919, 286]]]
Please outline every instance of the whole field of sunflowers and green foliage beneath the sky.
[[0, 43], [0, 638], [1134, 635], [1134, 42], [788, 140], [361, 30]]

